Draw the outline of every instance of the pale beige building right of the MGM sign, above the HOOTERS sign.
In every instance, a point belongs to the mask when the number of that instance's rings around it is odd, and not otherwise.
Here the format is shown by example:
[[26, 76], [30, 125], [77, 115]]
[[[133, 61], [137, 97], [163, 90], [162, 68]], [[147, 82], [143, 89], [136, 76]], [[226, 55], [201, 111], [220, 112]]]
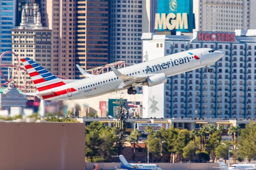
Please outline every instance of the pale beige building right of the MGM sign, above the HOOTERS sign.
[[194, 0], [195, 31], [256, 29], [254, 0]]

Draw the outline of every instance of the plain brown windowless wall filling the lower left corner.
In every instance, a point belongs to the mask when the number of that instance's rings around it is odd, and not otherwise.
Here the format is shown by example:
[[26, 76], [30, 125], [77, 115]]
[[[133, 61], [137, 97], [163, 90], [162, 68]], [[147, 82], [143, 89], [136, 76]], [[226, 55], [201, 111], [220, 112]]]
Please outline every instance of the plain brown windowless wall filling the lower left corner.
[[84, 170], [84, 123], [0, 122], [0, 169]]

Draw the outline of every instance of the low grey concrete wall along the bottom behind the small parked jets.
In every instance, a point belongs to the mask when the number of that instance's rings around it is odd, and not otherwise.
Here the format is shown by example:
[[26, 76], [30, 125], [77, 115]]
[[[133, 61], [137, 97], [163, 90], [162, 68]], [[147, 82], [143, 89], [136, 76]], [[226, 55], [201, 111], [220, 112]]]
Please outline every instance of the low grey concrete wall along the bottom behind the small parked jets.
[[[86, 170], [92, 170], [93, 164], [86, 163]], [[113, 170], [120, 168], [120, 163], [96, 163], [99, 170]], [[219, 163], [156, 163], [163, 170], [218, 170]]]

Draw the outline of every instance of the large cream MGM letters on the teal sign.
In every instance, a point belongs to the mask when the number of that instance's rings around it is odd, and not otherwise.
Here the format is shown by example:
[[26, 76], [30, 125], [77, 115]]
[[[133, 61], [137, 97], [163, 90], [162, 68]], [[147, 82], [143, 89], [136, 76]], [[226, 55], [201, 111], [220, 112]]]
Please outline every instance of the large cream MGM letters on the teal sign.
[[155, 16], [155, 30], [178, 30], [178, 29], [188, 29], [188, 14], [187, 13], [169, 13], [167, 16], [159, 13]]

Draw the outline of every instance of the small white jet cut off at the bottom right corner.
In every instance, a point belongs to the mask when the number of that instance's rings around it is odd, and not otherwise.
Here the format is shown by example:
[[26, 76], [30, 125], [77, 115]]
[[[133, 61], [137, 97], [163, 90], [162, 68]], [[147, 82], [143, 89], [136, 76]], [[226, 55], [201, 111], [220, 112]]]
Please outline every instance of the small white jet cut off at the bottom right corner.
[[233, 164], [230, 167], [227, 167], [225, 162], [222, 160], [219, 161], [220, 167], [215, 167], [215, 168], [220, 168], [220, 170], [256, 170], [256, 164], [253, 163], [238, 163], [238, 164]]

